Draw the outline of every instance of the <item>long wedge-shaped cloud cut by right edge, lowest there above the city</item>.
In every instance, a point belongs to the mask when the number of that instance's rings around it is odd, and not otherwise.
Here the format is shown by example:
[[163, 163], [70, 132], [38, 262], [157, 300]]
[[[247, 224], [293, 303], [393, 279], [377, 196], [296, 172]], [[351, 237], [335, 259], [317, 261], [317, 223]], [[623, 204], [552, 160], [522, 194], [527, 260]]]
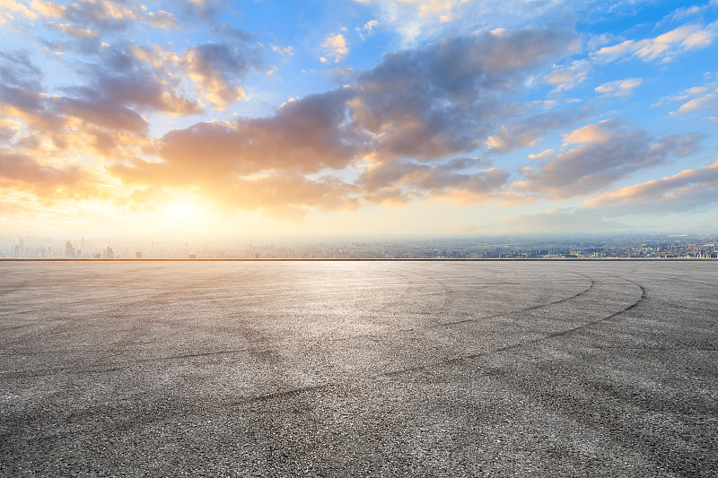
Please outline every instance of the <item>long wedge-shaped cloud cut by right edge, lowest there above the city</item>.
[[621, 187], [588, 199], [582, 208], [604, 214], [696, 211], [718, 203], [718, 161], [701, 169], [685, 169], [670, 177]]

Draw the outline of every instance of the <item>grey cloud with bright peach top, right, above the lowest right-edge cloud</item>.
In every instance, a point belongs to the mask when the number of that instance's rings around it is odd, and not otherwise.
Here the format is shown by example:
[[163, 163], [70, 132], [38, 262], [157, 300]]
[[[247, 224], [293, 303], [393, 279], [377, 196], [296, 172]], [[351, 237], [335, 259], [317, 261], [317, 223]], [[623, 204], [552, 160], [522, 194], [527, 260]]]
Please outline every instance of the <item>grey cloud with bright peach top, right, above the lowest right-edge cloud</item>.
[[524, 180], [515, 183], [518, 190], [551, 199], [585, 196], [639, 169], [692, 154], [700, 141], [696, 135], [652, 138], [643, 129], [627, 129], [617, 120], [584, 126], [564, 139], [566, 144], [579, 145], [537, 167], [523, 168]]

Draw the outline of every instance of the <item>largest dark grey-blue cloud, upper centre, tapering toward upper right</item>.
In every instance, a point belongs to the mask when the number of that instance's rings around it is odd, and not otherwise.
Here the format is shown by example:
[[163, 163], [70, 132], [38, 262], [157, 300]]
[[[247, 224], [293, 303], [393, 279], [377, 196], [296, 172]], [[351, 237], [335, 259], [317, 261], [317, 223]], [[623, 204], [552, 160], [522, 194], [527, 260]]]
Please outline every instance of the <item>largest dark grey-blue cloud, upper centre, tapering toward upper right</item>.
[[574, 31], [549, 27], [442, 39], [384, 56], [360, 75], [350, 102], [382, 158], [436, 159], [476, 150], [506, 95], [538, 66], [574, 51]]

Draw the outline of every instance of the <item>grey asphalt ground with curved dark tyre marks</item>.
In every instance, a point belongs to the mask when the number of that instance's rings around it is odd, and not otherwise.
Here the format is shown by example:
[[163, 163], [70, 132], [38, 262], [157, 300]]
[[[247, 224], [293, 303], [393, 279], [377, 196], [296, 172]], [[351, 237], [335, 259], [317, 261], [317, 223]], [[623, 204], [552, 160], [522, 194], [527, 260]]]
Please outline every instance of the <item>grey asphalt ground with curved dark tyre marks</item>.
[[0, 475], [716, 476], [718, 262], [0, 262]]

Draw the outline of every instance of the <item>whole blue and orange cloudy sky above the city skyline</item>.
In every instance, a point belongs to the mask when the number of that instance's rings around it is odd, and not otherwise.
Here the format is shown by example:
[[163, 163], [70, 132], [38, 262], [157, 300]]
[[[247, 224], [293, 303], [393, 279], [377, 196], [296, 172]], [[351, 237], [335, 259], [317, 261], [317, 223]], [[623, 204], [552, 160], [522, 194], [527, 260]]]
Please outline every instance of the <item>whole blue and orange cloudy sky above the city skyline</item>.
[[0, 235], [718, 232], [718, 0], [0, 0]]

